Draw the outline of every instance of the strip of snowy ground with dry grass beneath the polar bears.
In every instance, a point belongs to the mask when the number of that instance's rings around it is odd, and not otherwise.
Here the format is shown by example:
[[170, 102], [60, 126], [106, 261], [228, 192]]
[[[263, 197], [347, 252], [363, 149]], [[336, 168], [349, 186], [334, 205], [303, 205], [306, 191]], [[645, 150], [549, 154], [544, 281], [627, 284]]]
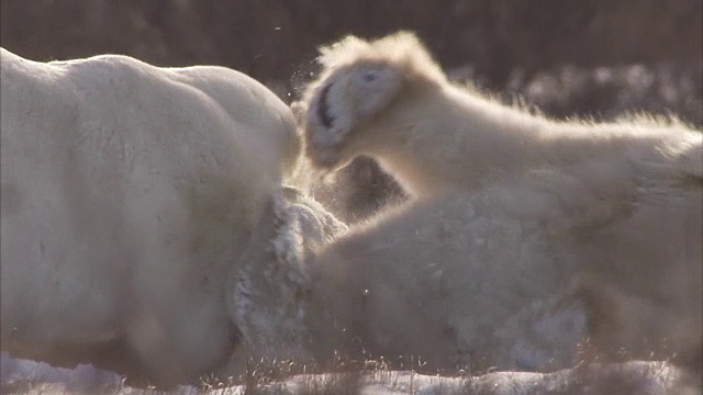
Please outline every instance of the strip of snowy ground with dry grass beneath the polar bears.
[[[157, 394], [123, 385], [123, 377], [92, 365], [54, 368], [43, 362], [0, 354], [2, 394]], [[475, 377], [442, 377], [414, 372], [293, 375], [255, 387], [179, 386], [167, 394], [700, 394], [700, 376], [665, 362], [632, 361], [588, 364], [555, 373], [495, 372]]]

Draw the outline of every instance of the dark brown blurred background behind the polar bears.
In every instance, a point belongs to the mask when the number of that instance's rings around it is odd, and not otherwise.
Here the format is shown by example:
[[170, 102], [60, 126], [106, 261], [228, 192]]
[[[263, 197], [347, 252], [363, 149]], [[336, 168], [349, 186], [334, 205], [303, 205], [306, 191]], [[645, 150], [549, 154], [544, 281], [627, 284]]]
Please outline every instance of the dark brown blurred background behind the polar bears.
[[[316, 47], [415, 31], [456, 80], [555, 117], [673, 112], [703, 125], [703, 0], [1, 0], [0, 44], [34, 60], [114, 53], [158, 66], [222, 65], [286, 102]], [[368, 159], [328, 206], [349, 222], [402, 191]], [[320, 187], [321, 195], [325, 188]], [[348, 213], [354, 213], [350, 217]]]

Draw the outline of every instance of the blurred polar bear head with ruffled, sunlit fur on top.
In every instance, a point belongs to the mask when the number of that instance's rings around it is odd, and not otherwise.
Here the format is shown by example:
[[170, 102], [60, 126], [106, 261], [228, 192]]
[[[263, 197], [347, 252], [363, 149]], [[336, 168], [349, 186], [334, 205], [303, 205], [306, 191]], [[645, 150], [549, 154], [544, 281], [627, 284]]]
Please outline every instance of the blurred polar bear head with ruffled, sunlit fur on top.
[[300, 119], [306, 154], [321, 169], [338, 169], [370, 149], [382, 138], [373, 127], [383, 124], [378, 119], [381, 112], [391, 116], [391, 108], [413, 90], [446, 81], [427, 49], [409, 32], [376, 41], [348, 36], [320, 53], [323, 71], [305, 92], [306, 109]]

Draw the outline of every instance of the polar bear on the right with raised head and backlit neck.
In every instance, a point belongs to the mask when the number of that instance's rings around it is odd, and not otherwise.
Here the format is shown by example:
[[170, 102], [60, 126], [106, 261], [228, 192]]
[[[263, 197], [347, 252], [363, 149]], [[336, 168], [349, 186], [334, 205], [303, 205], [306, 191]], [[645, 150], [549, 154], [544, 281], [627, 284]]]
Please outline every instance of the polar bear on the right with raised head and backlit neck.
[[[700, 132], [559, 123], [502, 106], [449, 84], [408, 33], [349, 37], [321, 60], [297, 108], [313, 165], [331, 170], [369, 154], [421, 199], [292, 266], [315, 279], [299, 291], [305, 307], [289, 314], [327, 334], [313, 349], [544, 369], [573, 362], [560, 348], [573, 350], [581, 335], [645, 357], [700, 339]], [[612, 301], [567, 292], [581, 313], [557, 319], [572, 329], [542, 347], [558, 328], [514, 323], [549, 321], [529, 306], [550, 309], [545, 301], [574, 278], [612, 289]], [[607, 304], [612, 314], [600, 317]], [[560, 362], [549, 362], [555, 351]]]

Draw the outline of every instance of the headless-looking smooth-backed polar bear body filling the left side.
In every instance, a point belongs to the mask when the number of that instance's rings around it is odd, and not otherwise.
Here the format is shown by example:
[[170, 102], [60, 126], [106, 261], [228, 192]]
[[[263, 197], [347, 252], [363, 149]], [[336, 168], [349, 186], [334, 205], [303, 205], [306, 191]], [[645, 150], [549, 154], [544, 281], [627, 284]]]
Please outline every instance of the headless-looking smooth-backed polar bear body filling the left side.
[[220, 364], [225, 280], [299, 155], [290, 110], [221, 67], [1, 61], [2, 349], [124, 339], [164, 381]]

